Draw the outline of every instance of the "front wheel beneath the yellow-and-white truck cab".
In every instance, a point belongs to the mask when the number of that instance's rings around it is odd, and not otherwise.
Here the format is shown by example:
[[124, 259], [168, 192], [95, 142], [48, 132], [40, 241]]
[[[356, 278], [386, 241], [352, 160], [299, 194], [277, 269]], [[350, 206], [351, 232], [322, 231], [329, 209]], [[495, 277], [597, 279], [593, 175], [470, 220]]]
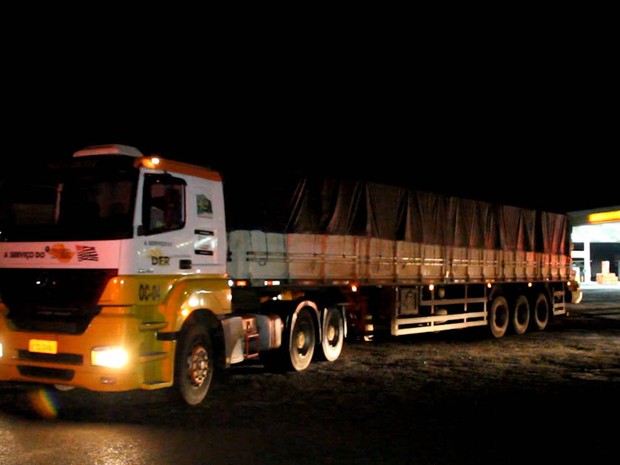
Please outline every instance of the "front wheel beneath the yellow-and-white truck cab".
[[198, 405], [207, 396], [214, 369], [211, 337], [200, 325], [181, 333], [177, 347], [174, 382], [176, 391], [188, 405]]

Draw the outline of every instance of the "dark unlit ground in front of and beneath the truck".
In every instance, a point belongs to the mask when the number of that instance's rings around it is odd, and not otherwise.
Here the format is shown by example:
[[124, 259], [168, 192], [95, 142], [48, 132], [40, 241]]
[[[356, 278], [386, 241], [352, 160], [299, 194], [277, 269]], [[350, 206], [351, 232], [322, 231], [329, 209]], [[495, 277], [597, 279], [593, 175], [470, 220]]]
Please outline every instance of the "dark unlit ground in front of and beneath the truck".
[[588, 287], [571, 310], [522, 336], [348, 341], [302, 373], [235, 367], [197, 408], [74, 390], [44, 419], [26, 391], [0, 388], [0, 464], [609, 463], [620, 288]]

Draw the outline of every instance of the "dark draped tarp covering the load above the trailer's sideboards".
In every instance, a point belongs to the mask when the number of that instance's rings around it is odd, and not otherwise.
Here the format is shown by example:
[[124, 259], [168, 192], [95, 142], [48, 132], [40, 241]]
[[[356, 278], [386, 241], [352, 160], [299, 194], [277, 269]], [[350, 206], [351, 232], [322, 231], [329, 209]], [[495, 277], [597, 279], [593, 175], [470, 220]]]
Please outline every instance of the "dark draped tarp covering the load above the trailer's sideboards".
[[[226, 194], [229, 229], [569, 254], [563, 214], [352, 179], [304, 178], [288, 194], [280, 187], [270, 197], [246, 196], [242, 203]], [[239, 221], [238, 209], [251, 215]]]

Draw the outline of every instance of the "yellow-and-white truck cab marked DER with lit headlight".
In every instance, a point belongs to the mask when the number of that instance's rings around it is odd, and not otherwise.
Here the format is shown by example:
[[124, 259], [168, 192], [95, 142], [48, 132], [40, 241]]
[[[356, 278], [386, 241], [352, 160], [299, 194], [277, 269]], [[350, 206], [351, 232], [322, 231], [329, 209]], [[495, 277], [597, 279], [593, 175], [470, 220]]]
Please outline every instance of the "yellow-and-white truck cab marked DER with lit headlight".
[[[4, 180], [1, 198], [0, 380], [169, 387], [194, 320], [220, 337], [231, 299], [219, 173], [93, 146]], [[196, 389], [210, 373], [200, 357]]]

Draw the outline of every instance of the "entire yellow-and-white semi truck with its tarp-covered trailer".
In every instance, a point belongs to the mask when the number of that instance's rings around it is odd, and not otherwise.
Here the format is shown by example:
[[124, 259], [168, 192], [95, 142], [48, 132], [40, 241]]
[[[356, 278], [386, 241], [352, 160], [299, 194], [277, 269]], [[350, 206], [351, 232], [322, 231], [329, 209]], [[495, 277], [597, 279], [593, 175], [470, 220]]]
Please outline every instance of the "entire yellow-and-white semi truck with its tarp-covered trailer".
[[580, 294], [560, 213], [360, 179], [235, 184], [119, 144], [43, 165], [0, 186], [6, 383], [195, 406], [235, 364], [303, 371], [377, 334], [518, 337]]

